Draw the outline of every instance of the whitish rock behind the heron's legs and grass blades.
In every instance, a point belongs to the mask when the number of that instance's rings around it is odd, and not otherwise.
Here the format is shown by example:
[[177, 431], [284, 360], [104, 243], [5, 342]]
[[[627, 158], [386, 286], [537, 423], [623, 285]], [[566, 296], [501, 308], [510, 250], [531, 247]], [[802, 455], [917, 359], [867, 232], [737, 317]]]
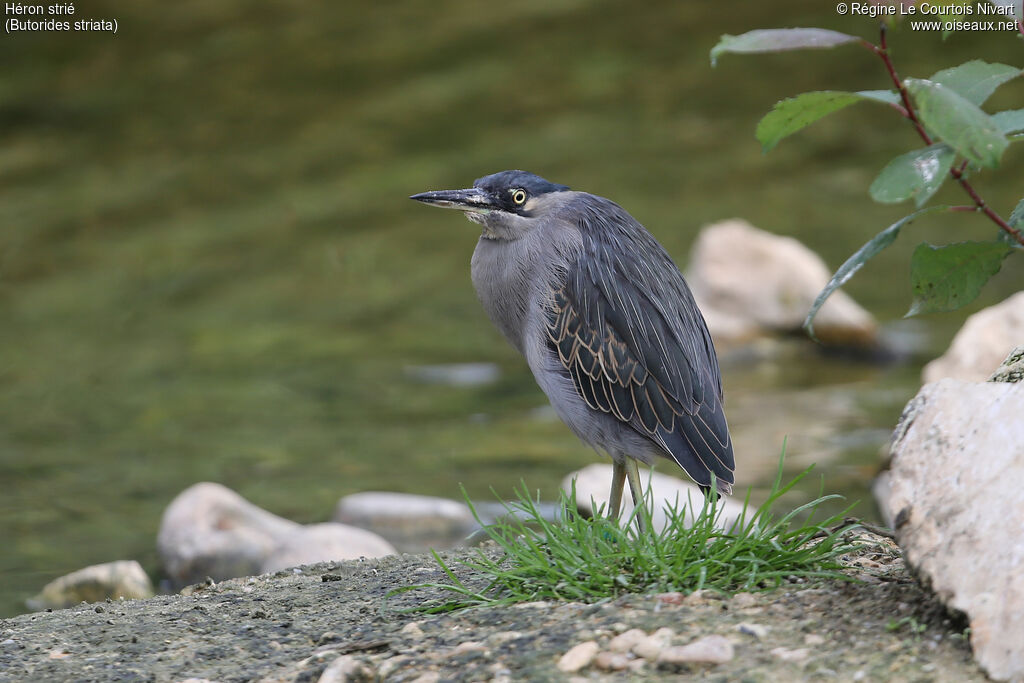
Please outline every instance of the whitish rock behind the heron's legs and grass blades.
[[[588, 465], [562, 479], [562, 490], [568, 494], [573, 480], [575, 480], [577, 507], [581, 513], [593, 515], [602, 506], [607, 509], [608, 494], [611, 488], [611, 465]], [[665, 514], [667, 505], [685, 510], [687, 524], [693, 522], [692, 513], [699, 513], [703, 506], [703, 494], [700, 493], [700, 488], [695, 483], [653, 471], [648, 477], [648, 473], [643, 469], [640, 472], [640, 480], [644, 488], [647, 488], [648, 485], [651, 487], [654, 502], [651, 521], [655, 531], [660, 531], [668, 524], [668, 516]], [[723, 528], [728, 528], [743, 512], [742, 504], [729, 498], [719, 499], [719, 509], [721, 511], [719, 525]], [[622, 518], [628, 518], [632, 512], [633, 499], [630, 496], [629, 484], [627, 484], [623, 492]]]

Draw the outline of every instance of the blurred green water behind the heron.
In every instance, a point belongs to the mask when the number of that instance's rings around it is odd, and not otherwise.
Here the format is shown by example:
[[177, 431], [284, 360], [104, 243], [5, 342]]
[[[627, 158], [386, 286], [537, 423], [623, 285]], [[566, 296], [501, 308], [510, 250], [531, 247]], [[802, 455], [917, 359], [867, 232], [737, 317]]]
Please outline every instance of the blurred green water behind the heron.
[[[815, 124], [768, 156], [772, 103], [884, 88], [856, 47], [725, 56], [723, 33], [819, 26], [874, 38], [831, 3], [303, 0], [76, 3], [111, 34], [0, 38], [0, 615], [56, 575], [136, 558], [158, 569], [160, 514], [222, 482], [299, 521], [389, 489], [490, 500], [520, 479], [555, 496], [597, 460], [539, 408], [525, 365], [469, 282], [474, 226], [406, 198], [524, 168], [613, 198], [681, 265], [703, 224], [743, 217], [837, 266], [909, 211], [866, 188], [918, 145], [882, 106]], [[908, 27], [901, 73], [1020, 41]], [[1021, 106], [1011, 83], [991, 109]], [[1004, 214], [1022, 155], [982, 177]], [[946, 186], [939, 202], [964, 201]], [[967, 311], [898, 323], [908, 258], [988, 239], [970, 215], [906, 230], [848, 291], [899, 338], [901, 364], [723, 353], [740, 487], [818, 462], [865, 499], [921, 366], [965, 312], [1024, 285], [1012, 264]], [[409, 368], [482, 361], [494, 384], [418, 383]], [[671, 467], [660, 467], [671, 472]], [[823, 484], [821, 479], [823, 478]], [[869, 501], [858, 512], [872, 517]]]

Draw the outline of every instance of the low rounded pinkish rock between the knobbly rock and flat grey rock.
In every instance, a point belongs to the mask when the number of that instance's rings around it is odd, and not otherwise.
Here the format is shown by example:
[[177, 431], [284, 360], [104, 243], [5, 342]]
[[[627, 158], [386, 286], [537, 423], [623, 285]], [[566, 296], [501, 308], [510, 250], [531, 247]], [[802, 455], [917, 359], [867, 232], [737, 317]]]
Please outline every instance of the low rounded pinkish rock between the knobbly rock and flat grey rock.
[[384, 557], [395, 552], [394, 546], [373, 531], [336, 522], [308, 524], [280, 540], [263, 560], [260, 573], [316, 562]]

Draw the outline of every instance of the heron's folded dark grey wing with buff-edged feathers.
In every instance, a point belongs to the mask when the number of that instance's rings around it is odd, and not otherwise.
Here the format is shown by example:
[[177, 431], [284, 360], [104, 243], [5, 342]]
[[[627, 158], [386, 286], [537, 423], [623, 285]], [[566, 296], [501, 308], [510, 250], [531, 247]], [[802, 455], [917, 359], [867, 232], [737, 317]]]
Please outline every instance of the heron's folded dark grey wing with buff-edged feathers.
[[718, 358], [675, 263], [617, 205], [573, 207], [579, 259], [551, 293], [548, 336], [580, 396], [629, 424], [698, 484], [735, 468]]

